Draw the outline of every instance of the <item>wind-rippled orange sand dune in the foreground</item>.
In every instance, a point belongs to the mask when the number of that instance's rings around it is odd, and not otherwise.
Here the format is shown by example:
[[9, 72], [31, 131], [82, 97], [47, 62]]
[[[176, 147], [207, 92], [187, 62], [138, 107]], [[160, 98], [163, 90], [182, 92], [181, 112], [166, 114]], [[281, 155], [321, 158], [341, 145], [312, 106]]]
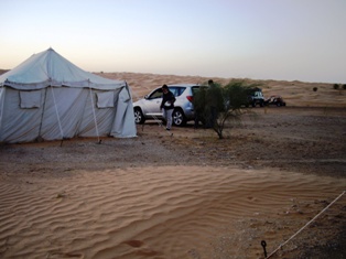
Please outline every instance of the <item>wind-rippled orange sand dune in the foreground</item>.
[[[331, 202], [345, 186], [346, 180], [229, 166], [2, 175], [0, 255], [259, 258], [261, 238], [273, 250], [298, 230], [275, 226], [278, 218], [307, 220], [318, 201]], [[245, 240], [233, 242], [237, 237]]]

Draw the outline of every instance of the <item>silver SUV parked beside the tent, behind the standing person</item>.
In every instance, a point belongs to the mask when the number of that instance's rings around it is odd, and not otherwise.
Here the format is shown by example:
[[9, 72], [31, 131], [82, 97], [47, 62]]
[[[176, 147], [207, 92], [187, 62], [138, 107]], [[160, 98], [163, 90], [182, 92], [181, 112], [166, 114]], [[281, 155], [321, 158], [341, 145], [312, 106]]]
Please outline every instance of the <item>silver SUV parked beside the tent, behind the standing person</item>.
[[[188, 120], [194, 120], [193, 96], [199, 89], [199, 85], [167, 85], [176, 100], [173, 110], [173, 125], [184, 126]], [[136, 123], [144, 123], [149, 119], [163, 119], [160, 105], [162, 101], [161, 87], [145, 95], [143, 99], [133, 102]]]

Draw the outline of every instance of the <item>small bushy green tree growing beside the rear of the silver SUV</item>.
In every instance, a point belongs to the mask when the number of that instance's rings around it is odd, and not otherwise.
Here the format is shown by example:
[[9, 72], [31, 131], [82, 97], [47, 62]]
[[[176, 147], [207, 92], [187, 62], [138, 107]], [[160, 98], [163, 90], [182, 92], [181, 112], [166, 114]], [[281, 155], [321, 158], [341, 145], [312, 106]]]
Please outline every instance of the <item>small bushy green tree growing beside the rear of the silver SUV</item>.
[[[227, 85], [209, 84], [194, 97], [194, 106], [198, 107], [198, 116], [212, 128], [219, 139], [224, 138], [227, 120], [239, 121], [241, 115], [248, 111], [248, 93], [258, 84], [246, 85], [242, 80], [230, 80]], [[204, 96], [205, 98], [202, 98]]]

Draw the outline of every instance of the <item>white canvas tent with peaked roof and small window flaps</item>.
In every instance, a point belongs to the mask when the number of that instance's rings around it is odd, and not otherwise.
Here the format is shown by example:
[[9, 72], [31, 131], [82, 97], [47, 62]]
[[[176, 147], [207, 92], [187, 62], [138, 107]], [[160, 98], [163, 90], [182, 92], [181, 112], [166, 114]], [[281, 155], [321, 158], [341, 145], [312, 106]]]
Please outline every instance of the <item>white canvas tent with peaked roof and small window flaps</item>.
[[52, 48], [0, 76], [0, 142], [136, 134], [127, 83], [85, 72]]

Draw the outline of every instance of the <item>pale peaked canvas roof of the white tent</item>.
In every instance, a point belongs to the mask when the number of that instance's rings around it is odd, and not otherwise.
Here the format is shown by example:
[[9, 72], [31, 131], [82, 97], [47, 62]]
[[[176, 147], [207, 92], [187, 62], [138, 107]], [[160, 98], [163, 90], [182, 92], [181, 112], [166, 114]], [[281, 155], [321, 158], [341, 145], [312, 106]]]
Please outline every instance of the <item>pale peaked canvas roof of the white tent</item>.
[[126, 82], [111, 80], [77, 67], [53, 48], [33, 54], [13, 69], [0, 76], [0, 87], [15, 89], [42, 89], [48, 86], [90, 87], [94, 89], [116, 89]]

